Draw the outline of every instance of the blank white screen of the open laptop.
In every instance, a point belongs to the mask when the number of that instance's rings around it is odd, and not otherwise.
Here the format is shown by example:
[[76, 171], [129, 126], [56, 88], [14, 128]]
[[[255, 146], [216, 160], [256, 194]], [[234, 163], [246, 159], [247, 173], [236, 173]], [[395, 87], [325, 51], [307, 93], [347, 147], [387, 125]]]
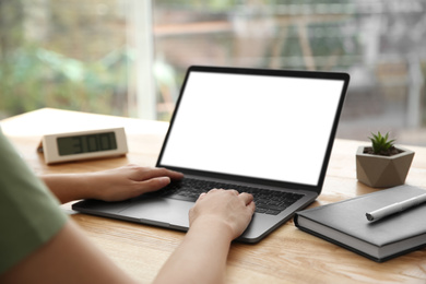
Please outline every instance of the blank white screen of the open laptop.
[[162, 164], [316, 186], [343, 84], [192, 71]]

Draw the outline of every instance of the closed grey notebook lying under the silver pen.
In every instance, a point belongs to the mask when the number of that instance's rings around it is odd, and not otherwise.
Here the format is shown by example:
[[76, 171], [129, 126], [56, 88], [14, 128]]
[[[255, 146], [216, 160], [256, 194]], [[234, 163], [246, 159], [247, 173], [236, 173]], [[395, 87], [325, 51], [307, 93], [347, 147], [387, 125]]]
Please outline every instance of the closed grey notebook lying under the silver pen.
[[426, 246], [426, 203], [374, 222], [366, 213], [425, 192], [412, 186], [379, 190], [299, 211], [294, 222], [301, 230], [382, 262]]

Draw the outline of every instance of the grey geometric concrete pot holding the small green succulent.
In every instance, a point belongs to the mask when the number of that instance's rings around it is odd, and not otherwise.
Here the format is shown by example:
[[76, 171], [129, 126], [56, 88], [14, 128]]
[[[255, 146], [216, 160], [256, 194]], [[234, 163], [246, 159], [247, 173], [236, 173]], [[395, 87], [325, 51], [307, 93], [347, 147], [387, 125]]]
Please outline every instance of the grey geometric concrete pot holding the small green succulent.
[[402, 151], [392, 156], [364, 153], [366, 146], [359, 146], [356, 152], [356, 178], [372, 188], [390, 188], [403, 185], [414, 152], [398, 146]]

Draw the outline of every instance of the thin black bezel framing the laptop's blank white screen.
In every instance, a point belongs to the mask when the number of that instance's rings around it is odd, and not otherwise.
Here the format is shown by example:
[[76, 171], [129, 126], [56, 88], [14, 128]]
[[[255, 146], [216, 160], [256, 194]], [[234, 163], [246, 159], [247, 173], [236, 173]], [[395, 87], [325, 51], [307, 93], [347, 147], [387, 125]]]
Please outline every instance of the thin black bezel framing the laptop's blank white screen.
[[[182, 168], [176, 166], [169, 166], [162, 163], [162, 158], [167, 146], [167, 142], [175, 122], [176, 115], [178, 114], [180, 102], [187, 86], [188, 78], [191, 72], [208, 72], [208, 73], [222, 73], [222, 74], [248, 74], [248, 75], [268, 75], [268, 76], [287, 76], [287, 78], [300, 78], [300, 79], [324, 79], [324, 80], [339, 80], [343, 82], [342, 91], [340, 94], [338, 108], [333, 118], [332, 128], [330, 131], [328, 145], [324, 153], [321, 170], [318, 177], [317, 185], [295, 184], [282, 180], [270, 180], [262, 178], [253, 178], [247, 176], [228, 175], [223, 173], [212, 173], [204, 170], [197, 170], [193, 168]], [[249, 69], [249, 68], [229, 68], [229, 67], [206, 67], [206, 66], [191, 66], [188, 68], [182, 86], [180, 88], [179, 97], [176, 103], [175, 111], [171, 116], [170, 123], [166, 137], [164, 139], [162, 150], [159, 152], [156, 167], [165, 167], [173, 170], [181, 171], [185, 175], [202, 176], [213, 179], [222, 179], [225, 181], [247, 182], [252, 185], [265, 185], [275, 188], [288, 188], [313, 191], [320, 193], [326, 178], [327, 168], [330, 162], [331, 151], [334, 143], [335, 133], [339, 126], [339, 119], [343, 109], [343, 103], [346, 95], [347, 86], [350, 82], [350, 75], [343, 72], [322, 72], [322, 71], [299, 71], [299, 70], [270, 70], [270, 69]]]

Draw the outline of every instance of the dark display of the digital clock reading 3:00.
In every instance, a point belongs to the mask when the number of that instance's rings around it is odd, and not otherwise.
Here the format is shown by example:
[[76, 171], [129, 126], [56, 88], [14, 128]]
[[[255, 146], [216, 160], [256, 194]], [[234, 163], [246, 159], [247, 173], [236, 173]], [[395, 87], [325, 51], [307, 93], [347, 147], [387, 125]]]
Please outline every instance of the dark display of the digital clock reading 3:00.
[[115, 132], [62, 137], [57, 139], [57, 143], [60, 156], [117, 149]]

